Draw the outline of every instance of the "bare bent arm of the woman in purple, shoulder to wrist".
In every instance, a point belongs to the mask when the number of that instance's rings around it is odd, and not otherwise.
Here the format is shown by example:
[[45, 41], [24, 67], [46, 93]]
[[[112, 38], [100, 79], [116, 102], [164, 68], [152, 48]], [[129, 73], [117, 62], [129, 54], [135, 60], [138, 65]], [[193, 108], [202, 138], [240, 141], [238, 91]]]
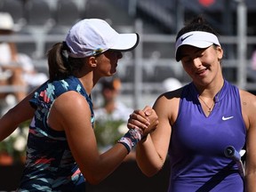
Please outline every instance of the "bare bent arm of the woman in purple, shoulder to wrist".
[[[146, 140], [141, 140], [136, 147], [136, 161], [148, 177], [159, 172], [166, 160], [172, 133], [172, 114], [177, 111], [179, 103], [176, 99], [170, 99], [166, 94], [160, 96], [154, 104], [159, 124], [156, 131], [148, 134]], [[174, 112], [173, 112], [174, 111]]]

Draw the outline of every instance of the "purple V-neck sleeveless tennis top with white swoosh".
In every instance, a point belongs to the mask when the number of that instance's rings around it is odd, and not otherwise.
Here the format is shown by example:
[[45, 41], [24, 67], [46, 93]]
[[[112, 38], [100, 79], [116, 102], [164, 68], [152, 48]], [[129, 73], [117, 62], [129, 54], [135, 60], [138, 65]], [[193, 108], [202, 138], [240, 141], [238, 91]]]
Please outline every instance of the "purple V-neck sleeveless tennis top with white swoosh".
[[168, 154], [171, 162], [169, 192], [244, 191], [236, 162], [224, 154], [244, 147], [246, 128], [239, 90], [226, 80], [206, 117], [193, 83], [184, 86], [179, 114], [172, 126]]

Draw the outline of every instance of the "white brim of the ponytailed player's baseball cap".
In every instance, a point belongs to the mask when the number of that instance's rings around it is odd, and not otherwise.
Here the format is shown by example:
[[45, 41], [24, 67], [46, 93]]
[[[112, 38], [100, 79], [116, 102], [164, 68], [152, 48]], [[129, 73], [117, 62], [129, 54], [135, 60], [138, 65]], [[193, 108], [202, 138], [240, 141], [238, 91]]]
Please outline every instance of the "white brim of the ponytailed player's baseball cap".
[[110, 50], [127, 52], [134, 49], [140, 42], [140, 36], [137, 33], [134, 34], [119, 34], [116, 44], [114, 44]]

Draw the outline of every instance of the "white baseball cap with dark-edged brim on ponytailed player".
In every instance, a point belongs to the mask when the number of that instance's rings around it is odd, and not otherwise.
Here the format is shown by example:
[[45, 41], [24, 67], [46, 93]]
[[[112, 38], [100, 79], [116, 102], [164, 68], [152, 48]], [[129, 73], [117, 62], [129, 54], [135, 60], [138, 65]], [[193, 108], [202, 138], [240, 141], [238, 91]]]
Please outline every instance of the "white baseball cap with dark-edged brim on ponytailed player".
[[105, 20], [84, 19], [78, 21], [66, 36], [68, 55], [84, 58], [107, 50], [126, 52], [139, 44], [136, 33], [119, 34]]

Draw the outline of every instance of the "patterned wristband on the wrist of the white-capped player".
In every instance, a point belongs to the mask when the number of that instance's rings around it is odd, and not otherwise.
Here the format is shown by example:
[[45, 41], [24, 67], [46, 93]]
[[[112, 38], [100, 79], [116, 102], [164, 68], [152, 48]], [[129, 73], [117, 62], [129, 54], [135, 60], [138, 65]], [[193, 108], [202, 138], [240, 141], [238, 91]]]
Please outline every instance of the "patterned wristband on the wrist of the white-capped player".
[[142, 132], [139, 129], [130, 129], [117, 142], [123, 144], [129, 154], [132, 148], [141, 140], [141, 138]]

